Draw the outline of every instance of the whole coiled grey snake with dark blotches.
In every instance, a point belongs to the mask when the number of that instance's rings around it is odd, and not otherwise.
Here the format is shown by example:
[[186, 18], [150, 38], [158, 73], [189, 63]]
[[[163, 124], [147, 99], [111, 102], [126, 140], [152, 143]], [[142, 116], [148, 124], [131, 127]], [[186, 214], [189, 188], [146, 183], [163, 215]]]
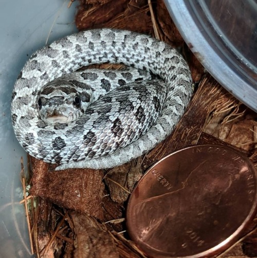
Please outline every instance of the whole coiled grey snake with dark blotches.
[[[77, 71], [102, 63], [131, 68]], [[164, 140], [192, 93], [189, 67], [168, 44], [94, 29], [31, 56], [14, 85], [12, 123], [25, 151], [57, 170], [112, 168]]]

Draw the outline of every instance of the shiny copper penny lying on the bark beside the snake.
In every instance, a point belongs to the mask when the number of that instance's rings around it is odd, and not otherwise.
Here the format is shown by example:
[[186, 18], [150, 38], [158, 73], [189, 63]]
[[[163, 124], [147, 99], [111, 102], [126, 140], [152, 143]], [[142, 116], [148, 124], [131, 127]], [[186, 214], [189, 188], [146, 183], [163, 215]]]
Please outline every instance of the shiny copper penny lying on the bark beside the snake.
[[197, 145], [158, 161], [127, 207], [127, 228], [151, 257], [206, 257], [235, 243], [256, 213], [256, 171], [240, 152]]

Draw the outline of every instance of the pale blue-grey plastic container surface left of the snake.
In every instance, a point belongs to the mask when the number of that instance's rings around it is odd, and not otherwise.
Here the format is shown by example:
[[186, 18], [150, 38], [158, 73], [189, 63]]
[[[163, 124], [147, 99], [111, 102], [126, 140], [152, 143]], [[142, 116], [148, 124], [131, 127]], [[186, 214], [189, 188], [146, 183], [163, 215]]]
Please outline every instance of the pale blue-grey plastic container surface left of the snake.
[[[1, 1], [0, 8], [0, 257], [30, 257], [22, 185], [21, 156], [26, 153], [13, 132], [11, 95], [29, 56], [46, 42], [77, 31], [76, 3], [69, 1]], [[26, 160], [26, 159], [25, 159]], [[26, 166], [26, 161], [24, 162]]]

